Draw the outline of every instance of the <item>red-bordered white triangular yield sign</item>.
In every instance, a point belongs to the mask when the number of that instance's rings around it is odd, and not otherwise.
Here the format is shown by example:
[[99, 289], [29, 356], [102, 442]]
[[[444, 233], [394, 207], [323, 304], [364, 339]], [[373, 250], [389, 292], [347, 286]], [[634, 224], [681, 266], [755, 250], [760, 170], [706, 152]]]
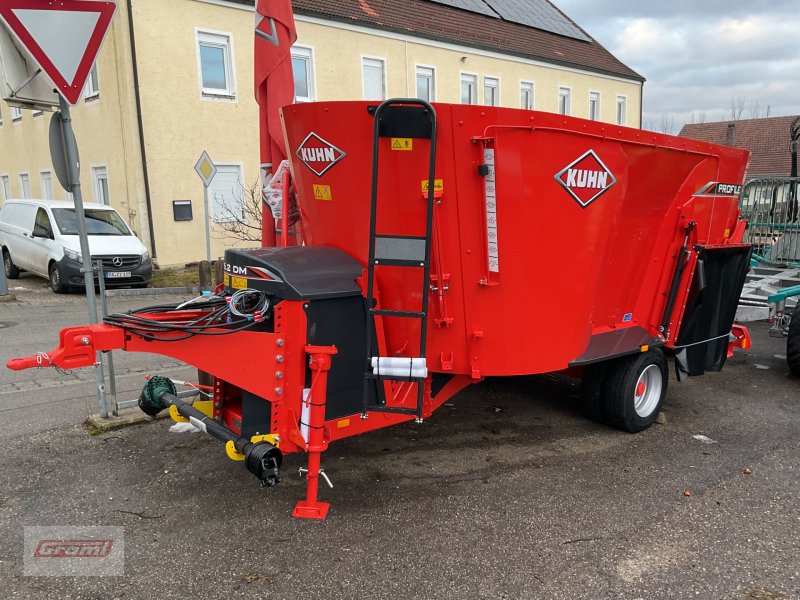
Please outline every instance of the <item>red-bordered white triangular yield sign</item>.
[[105, 0], [0, 0], [0, 19], [77, 104], [116, 9]]

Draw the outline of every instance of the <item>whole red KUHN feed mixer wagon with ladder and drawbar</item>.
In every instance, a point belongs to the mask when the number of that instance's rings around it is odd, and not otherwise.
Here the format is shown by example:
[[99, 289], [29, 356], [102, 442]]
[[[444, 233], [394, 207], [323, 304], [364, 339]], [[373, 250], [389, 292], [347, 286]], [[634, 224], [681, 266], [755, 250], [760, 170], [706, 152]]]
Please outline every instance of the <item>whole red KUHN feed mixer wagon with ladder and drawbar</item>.
[[282, 117], [303, 245], [228, 250], [215, 294], [64, 329], [58, 349], [8, 366], [124, 349], [207, 371], [211, 400], [155, 377], [140, 407], [225, 442], [265, 485], [305, 451], [294, 515], [324, 518], [330, 442], [421, 422], [486, 376], [582, 377], [589, 415], [636, 432], [664, 400], [668, 356], [680, 380], [749, 344], [733, 323], [745, 151], [411, 99]]

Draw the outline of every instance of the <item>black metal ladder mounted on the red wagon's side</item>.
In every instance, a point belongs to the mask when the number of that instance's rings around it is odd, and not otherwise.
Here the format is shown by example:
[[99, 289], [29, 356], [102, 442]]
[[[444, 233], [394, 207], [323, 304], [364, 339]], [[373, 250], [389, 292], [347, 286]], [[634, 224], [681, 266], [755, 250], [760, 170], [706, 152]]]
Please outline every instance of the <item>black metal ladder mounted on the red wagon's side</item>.
[[[425, 399], [425, 377], [382, 375], [372, 370], [372, 357], [380, 356], [375, 338], [375, 317], [396, 319], [419, 319], [420, 339], [417, 357], [425, 358], [428, 331], [428, 286], [431, 273], [431, 238], [433, 234], [433, 210], [435, 202], [436, 171], [436, 111], [424, 100], [418, 98], [394, 98], [381, 103], [373, 113], [375, 123], [372, 139], [372, 186], [370, 191], [369, 219], [369, 261], [367, 263], [366, 295], [366, 358], [364, 362], [364, 396], [361, 417], [367, 413], [383, 412], [415, 415], [422, 422], [422, 409]], [[425, 235], [407, 236], [378, 234], [378, 165], [380, 139], [416, 138], [430, 140], [430, 159], [428, 166], [428, 197], [425, 214]], [[385, 310], [375, 308], [375, 270], [376, 267], [405, 267], [422, 269], [422, 308], [420, 311]], [[411, 372], [409, 364], [409, 372]], [[380, 369], [378, 370], [380, 371]], [[412, 381], [417, 385], [417, 406], [406, 408], [370, 404], [371, 390], [382, 381]], [[380, 395], [378, 394], [378, 397]]]

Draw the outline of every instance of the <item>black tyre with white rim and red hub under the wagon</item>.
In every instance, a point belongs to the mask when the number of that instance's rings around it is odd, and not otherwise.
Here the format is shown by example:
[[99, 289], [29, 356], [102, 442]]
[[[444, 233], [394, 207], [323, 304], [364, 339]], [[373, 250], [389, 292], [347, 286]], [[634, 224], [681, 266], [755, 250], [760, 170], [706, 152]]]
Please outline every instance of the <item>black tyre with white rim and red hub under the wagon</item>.
[[667, 359], [659, 349], [609, 363], [603, 386], [608, 424], [631, 433], [650, 427], [664, 403], [667, 381]]

